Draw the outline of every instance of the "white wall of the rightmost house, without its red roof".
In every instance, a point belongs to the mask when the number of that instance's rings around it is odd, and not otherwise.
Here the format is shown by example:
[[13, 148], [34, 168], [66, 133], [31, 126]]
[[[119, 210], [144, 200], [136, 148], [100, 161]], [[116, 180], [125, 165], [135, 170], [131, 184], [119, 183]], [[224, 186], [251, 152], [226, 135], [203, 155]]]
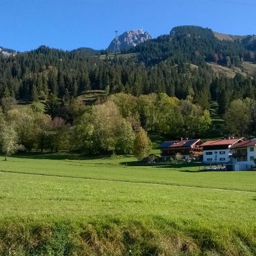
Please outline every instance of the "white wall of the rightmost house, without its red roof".
[[236, 148], [234, 153], [240, 153], [238, 150], [244, 150], [247, 153], [245, 157], [232, 157], [232, 163], [234, 164], [235, 171], [244, 171], [255, 166], [254, 158], [256, 158], [256, 146], [248, 146], [246, 148]]

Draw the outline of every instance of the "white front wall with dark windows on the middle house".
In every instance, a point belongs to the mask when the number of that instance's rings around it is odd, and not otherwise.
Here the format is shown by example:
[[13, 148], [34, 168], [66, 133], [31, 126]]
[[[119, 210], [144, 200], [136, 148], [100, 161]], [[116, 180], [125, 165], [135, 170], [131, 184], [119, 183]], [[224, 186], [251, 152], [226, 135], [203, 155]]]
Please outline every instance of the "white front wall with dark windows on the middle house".
[[230, 157], [231, 157], [231, 151], [229, 148], [203, 150], [204, 163], [229, 163]]

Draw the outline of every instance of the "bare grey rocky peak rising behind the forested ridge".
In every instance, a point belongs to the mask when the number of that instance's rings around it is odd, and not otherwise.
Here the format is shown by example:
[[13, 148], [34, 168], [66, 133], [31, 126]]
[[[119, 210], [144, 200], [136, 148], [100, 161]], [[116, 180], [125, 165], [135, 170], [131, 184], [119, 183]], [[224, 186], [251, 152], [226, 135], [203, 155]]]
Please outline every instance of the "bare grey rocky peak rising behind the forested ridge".
[[108, 46], [108, 51], [114, 52], [115, 45], [119, 44], [120, 51], [125, 48], [135, 47], [137, 44], [144, 43], [147, 40], [152, 39], [152, 36], [148, 32], [144, 32], [142, 29], [134, 29], [126, 31], [122, 35], [118, 36], [118, 41], [114, 38]]

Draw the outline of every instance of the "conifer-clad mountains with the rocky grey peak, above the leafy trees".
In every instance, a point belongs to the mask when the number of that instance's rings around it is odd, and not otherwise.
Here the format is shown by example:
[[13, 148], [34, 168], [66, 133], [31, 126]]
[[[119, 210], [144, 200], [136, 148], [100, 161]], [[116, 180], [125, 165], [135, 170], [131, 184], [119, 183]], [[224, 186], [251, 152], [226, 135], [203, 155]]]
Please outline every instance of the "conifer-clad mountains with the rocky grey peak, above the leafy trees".
[[253, 35], [220, 40], [208, 28], [177, 26], [143, 42], [147, 38], [142, 30], [124, 33], [118, 37], [120, 48], [123, 42], [136, 46], [118, 54], [45, 45], [11, 58], [0, 54], [0, 99], [11, 94], [17, 100], [45, 100], [53, 93], [65, 102], [91, 89], [135, 96], [167, 93], [193, 98], [203, 109], [218, 100], [220, 115], [234, 99], [256, 100]]

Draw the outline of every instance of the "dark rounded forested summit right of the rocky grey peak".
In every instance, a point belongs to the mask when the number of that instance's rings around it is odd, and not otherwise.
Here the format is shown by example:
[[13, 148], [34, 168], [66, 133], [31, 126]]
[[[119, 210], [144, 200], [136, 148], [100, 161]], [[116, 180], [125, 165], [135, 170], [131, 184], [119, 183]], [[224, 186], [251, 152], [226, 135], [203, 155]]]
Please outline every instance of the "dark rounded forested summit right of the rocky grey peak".
[[190, 62], [197, 66], [205, 62], [239, 66], [241, 61], [254, 62], [256, 41], [253, 39], [252, 35], [242, 40], [220, 40], [208, 28], [177, 26], [170, 34], [136, 45], [134, 51], [140, 53], [140, 60], [147, 65], [172, 58], [175, 63]]

